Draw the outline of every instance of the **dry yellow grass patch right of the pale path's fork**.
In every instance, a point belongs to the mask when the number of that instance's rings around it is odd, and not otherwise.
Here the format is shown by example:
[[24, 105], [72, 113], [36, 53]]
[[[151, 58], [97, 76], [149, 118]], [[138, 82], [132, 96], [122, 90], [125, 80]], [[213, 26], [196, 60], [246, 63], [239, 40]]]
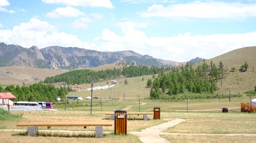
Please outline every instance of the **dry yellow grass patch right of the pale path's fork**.
[[169, 113], [174, 118], [193, 119], [183, 122], [165, 132], [177, 133], [256, 133], [255, 113], [184, 112]]

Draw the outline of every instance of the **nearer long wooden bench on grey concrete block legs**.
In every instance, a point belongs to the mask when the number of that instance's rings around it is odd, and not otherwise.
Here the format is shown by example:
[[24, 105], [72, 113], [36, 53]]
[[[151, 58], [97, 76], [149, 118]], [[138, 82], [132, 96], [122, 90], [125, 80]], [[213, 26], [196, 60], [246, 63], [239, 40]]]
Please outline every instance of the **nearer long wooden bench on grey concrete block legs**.
[[28, 127], [28, 135], [37, 136], [38, 135], [38, 127], [45, 126], [48, 129], [52, 126], [83, 126], [86, 128], [87, 126], [95, 126], [95, 136], [103, 137], [103, 126], [112, 126], [112, 123], [77, 123], [77, 122], [63, 122], [63, 123], [52, 123], [52, 122], [21, 122], [17, 124], [17, 127]]

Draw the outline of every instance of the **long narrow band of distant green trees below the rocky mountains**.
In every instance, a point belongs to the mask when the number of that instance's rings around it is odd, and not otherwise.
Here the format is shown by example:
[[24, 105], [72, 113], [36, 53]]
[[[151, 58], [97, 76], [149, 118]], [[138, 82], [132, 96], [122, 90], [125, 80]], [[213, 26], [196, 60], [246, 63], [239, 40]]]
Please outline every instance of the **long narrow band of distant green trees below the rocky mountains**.
[[123, 75], [125, 77], [136, 77], [149, 74], [157, 74], [170, 70], [170, 67], [155, 66], [124, 66], [121, 69], [106, 69], [101, 71], [93, 71], [90, 69], [73, 70], [56, 76], [47, 77], [45, 83], [66, 82], [67, 84], [81, 84], [95, 82], [100, 79], [114, 79]]

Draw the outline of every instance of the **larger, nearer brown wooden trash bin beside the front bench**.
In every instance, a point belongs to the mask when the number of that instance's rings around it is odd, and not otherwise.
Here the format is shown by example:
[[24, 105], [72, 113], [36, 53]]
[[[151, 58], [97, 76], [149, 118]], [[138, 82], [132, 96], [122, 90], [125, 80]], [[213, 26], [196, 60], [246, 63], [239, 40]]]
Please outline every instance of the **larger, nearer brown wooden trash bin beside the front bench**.
[[115, 135], [127, 134], [127, 111], [115, 110]]

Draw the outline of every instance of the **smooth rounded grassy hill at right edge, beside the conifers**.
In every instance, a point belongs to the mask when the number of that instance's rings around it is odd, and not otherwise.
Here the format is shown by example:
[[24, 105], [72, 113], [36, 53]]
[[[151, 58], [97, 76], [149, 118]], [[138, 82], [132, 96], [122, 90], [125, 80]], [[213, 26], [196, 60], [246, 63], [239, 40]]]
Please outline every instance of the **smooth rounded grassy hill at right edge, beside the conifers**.
[[[216, 56], [215, 58], [206, 60], [205, 62], [208, 65], [210, 64], [210, 61], [212, 61], [217, 66], [219, 65], [219, 62], [222, 61], [224, 64], [224, 70], [227, 69], [227, 75], [224, 73], [224, 79], [222, 79], [222, 86], [221, 82], [218, 82], [219, 90], [217, 93], [228, 94], [230, 91], [231, 93], [238, 94], [253, 89], [254, 85], [256, 85], [256, 69], [254, 69], [254, 71], [252, 70], [253, 66], [256, 68], [255, 57], [256, 46], [253, 46], [232, 50]], [[245, 61], [248, 63], [249, 68], [246, 72], [240, 72], [239, 69]], [[199, 64], [202, 64], [202, 62]], [[230, 72], [231, 67], [235, 67], [236, 70], [234, 72]]]

